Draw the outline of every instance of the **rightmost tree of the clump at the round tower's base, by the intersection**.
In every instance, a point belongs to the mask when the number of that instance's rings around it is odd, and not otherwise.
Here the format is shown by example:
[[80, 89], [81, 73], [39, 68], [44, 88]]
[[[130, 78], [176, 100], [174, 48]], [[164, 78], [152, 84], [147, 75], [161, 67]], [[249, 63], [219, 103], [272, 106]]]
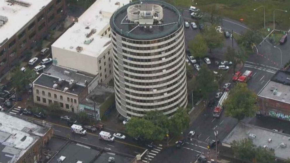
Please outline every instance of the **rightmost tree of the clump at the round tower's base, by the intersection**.
[[189, 115], [187, 114], [186, 109], [178, 108], [173, 117], [169, 120], [170, 134], [174, 136], [181, 135], [181, 132], [188, 128], [189, 126]]

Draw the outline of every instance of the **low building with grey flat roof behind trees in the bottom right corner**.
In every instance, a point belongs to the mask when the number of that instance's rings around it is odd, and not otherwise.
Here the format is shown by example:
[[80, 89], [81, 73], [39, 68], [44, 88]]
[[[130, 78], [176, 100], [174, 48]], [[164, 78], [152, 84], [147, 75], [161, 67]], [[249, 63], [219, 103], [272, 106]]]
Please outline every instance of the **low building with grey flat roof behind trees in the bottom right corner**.
[[230, 149], [232, 147], [231, 143], [233, 141], [240, 141], [244, 138], [251, 138], [257, 147], [261, 146], [275, 150], [275, 157], [281, 161], [289, 158], [290, 135], [242, 122], [238, 123], [237, 126], [225, 137], [222, 141], [221, 150], [223, 150], [223, 153], [227, 152], [230, 154], [232, 152]]

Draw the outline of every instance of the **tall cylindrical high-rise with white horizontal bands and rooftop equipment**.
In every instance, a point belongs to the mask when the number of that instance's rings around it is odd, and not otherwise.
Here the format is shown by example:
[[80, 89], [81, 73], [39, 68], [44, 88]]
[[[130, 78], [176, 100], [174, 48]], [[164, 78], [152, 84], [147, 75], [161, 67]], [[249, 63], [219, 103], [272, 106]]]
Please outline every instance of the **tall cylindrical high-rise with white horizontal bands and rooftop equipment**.
[[139, 1], [111, 17], [115, 100], [127, 118], [187, 105], [184, 27], [180, 12], [162, 1]]

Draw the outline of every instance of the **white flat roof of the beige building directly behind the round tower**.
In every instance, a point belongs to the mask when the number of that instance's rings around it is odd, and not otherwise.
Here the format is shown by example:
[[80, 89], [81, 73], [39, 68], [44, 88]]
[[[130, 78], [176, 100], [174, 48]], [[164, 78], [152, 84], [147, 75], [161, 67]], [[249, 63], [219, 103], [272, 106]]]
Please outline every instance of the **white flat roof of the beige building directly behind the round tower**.
[[[119, 3], [117, 3], [119, 2]], [[84, 55], [97, 57], [102, 51], [110, 46], [111, 39], [102, 37], [101, 34], [109, 27], [110, 18], [113, 13], [123, 4], [128, 4], [129, 0], [98, 0], [79, 18], [78, 22], [70, 27], [61, 37], [59, 37], [51, 46], [68, 51], [76, 52], [78, 46], [83, 50]], [[120, 5], [119, 5], [120, 4]], [[89, 29], [86, 29], [89, 27]], [[86, 37], [92, 29], [96, 32], [89, 38]], [[84, 41], [94, 39], [89, 45]]]

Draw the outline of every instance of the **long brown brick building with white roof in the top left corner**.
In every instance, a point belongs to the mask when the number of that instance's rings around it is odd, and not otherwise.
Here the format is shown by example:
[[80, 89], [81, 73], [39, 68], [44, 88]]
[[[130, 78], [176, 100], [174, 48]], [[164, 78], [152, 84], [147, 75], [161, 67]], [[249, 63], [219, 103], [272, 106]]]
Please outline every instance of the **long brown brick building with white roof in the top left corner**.
[[0, 0], [0, 76], [64, 19], [65, 0]]

